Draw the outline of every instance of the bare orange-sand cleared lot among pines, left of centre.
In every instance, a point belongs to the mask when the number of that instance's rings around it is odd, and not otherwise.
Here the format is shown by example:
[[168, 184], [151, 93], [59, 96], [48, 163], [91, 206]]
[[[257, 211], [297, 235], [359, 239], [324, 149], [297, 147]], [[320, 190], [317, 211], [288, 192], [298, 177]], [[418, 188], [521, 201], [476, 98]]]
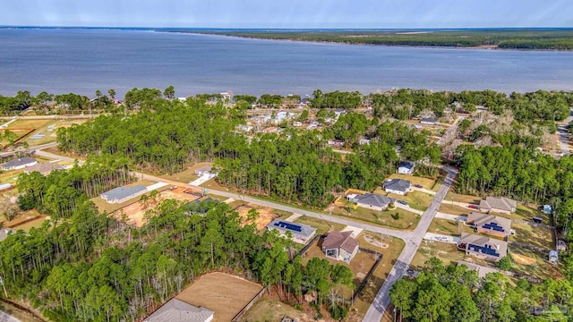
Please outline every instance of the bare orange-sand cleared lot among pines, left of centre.
[[[184, 192], [185, 189], [181, 187], [171, 191], [166, 186], [161, 188], [160, 190], [163, 191], [159, 193], [158, 203], [161, 202], [161, 200], [165, 199], [175, 199], [177, 201], [183, 201], [185, 203], [199, 199], [199, 197], [195, 195], [185, 193]], [[139, 196], [138, 198], [141, 198], [141, 196]], [[103, 199], [101, 200], [105, 202], [105, 200]], [[126, 203], [129, 203], [129, 201], [126, 201]], [[150, 207], [152, 207], [152, 205]], [[123, 208], [116, 210], [115, 212], [111, 213], [111, 215], [115, 216], [117, 219], [122, 219], [123, 216], [126, 216], [128, 225], [136, 225], [138, 227], [141, 227], [142, 225], [145, 225], [147, 223], [145, 213], [148, 209], [149, 207], [145, 208], [141, 201], [136, 201], [131, 204], [125, 205]]]

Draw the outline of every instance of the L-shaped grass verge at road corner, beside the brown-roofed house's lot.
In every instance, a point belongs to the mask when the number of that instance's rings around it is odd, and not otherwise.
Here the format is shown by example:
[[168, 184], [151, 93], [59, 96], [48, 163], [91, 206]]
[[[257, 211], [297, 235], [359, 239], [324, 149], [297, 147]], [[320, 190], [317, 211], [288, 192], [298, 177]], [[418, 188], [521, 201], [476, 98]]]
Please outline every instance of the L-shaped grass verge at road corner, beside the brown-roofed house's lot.
[[[365, 235], [372, 236], [375, 241], [388, 244], [389, 248], [384, 249], [376, 247], [371, 243], [366, 242], [364, 239]], [[398, 238], [368, 231], [364, 231], [358, 237], [358, 243], [362, 248], [376, 250], [382, 254], [382, 261], [380, 265], [372, 274], [372, 277], [370, 278], [368, 284], [366, 284], [366, 287], [364, 287], [362, 294], [355, 301], [355, 309], [358, 309], [358, 312], [365, 314], [368, 310], [368, 307], [370, 307], [374, 296], [376, 296], [376, 293], [378, 293], [382, 284], [386, 278], [388, 278], [389, 272], [396, 263], [396, 259], [398, 259], [398, 256], [400, 255], [400, 252], [402, 252], [402, 249], [404, 249], [405, 244]]]

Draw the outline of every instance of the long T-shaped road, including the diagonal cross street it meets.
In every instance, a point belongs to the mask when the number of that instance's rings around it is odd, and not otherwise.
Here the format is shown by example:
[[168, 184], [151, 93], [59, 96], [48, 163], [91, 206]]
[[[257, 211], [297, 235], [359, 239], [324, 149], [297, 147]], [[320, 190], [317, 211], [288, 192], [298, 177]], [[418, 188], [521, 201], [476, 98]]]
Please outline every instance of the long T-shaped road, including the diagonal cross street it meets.
[[[36, 153], [38, 155], [44, 156], [44, 157], [59, 158], [62, 160], [67, 160], [67, 161], [73, 161], [74, 160], [71, 157], [57, 156], [55, 154], [48, 153], [45, 151], [40, 151], [40, 150], [37, 150]], [[78, 160], [78, 161], [81, 161], [81, 160]], [[448, 174], [446, 175], [446, 178], [444, 179], [444, 181], [441, 183], [440, 189], [438, 190], [438, 192], [436, 192], [436, 194], [432, 200], [432, 204], [423, 213], [423, 216], [420, 219], [420, 223], [416, 226], [414, 231], [397, 231], [397, 230], [393, 230], [393, 229], [382, 228], [382, 227], [375, 226], [375, 225], [357, 223], [355, 221], [341, 218], [338, 216], [329, 216], [329, 215], [321, 214], [318, 212], [294, 208], [294, 207], [278, 204], [278, 203], [275, 203], [275, 202], [272, 202], [269, 200], [256, 199], [256, 198], [252, 198], [249, 196], [244, 196], [241, 194], [237, 194], [236, 192], [217, 191], [217, 190], [213, 190], [213, 189], [210, 189], [209, 191], [214, 193], [214, 194], [217, 194], [217, 195], [220, 195], [223, 197], [227, 197], [227, 198], [244, 200], [246, 202], [251, 202], [251, 203], [256, 204], [256, 205], [261, 205], [261, 206], [266, 206], [266, 207], [270, 207], [270, 208], [276, 208], [276, 209], [280, 209], [280, 210], [284, 210], [284, 211], [289, 211], [289, 212], [292, 212], [294, 214], [301, 214], [304, 216], [311, 216], [314, 218], [320, 218], [320, 219], [323, 219], [323, 220], [326, 220], [326, 221], [329, 221], [332, 223], [341, 224], [341, 225], [352, 225], [352, 226], [355, 226], [358, 228], [362, 228], [364, 230], [369, 230], [369, 231], [374, 232], [374, 233], [383, 233], [383, 234], [386, 234], [389, 236], [397, 237], [397, 238], [403, 240], [404, 242], [406, 242], [406, 246], [404, 247], [404, 250], [402, 250], [402, 253], [400, 253], [400, 256], [398, 257], [396, 264], [390, 270], [388, 278], [386, 279], [384, 284], [382, 284], [380, 291], [378, 292], [378, 294], [376, 294], [374, 301], [372, 301], [372, 305], [370, 306], [370, 308], [366, 312], [366, 315], [363, 318], [363, 321], [368, 321], [368, 322], [370, 322], [370, 321], [381, 321], [381, 318], [384, 315], [384, 312], [386, 311], [386, 309], [388, 309], [388, 306], [389, 306], [389, 302], [390, 302], [389, 290], [390, 290], [390, 288], [392, 287], [392, 285], [394, 283], [396, 283], [400, 278], [402, 278], [403, 275], [405, 275], [406, 270], [410, 266], [410, 262], [412, 262], [412, 259], [415, 256], [415, 252], [420, 247], [420, 243], [423, 240], [423, 236], [428, 231], [430, 224], [432, 224], [433, 217], [436, 216], [436, 214], [438, 213], [438, 208], [440, 208], [441, 202], [446, 198], [446, 194], [448, 193], [449, 188], [451, 187], [452, 183], [454, 182], [454, 178], [458, 174], [458, 170], [456, 170], [455, 168], [449, 167], [449, 166], [443, 166], [442, 169], [446, 170], [448, 172]], [[133, 174], [136, 175], [137, 177], [140, 177], [141, 179], [148, 179], [148, 180], [156, 181], [156, 182], [167, 182], [169, 184], [179, 186], [179, 187], [189, 188], [191, 186], [191, 185], [186, 184], [186, 183], [174, 182], [174, 181], [159, 178], [159, 177], [156, 177], [156, 176], [150, 175], [150, 174], [141, 174], [141, 173], [136, 173], [136, 172], [133, 172]], [[200, 190], [200, 191], [203, 190], [203, 188], [200, 186], [191, 186], [191, 187], [195, 188], [197, 190]], [[0, 320], [0, 322], [2, 322], [2, 320]]]

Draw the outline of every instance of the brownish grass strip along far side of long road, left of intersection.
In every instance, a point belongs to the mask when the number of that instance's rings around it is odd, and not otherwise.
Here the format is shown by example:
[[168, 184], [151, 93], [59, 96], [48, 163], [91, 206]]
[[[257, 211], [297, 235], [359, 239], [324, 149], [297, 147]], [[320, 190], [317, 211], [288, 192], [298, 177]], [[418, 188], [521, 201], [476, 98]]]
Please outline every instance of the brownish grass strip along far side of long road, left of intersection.
[[[398, 219], [392, 215], [399, 214]], [[358, 207], [348, 211], [347, 208], [333, 207], [332, 215], [344, 216], [347, 218], [361, 220], [370, 224], [391, 227], [396, 229], [414, 229], [420, 221], [420, 216], [411, 213], [402, 208], [392, 210], [377, 211], [367, 208]]]

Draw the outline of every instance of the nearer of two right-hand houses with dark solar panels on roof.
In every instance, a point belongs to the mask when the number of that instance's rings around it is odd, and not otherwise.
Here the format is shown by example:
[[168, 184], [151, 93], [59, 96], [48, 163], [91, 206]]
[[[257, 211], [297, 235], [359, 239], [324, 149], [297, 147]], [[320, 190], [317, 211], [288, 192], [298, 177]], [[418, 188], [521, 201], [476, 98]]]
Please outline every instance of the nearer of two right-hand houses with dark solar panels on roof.
[[458, 249], [466, 251], [466, 255], [499, 261], [508, 255], [508, 242], [472, 233], [462, 233]]

